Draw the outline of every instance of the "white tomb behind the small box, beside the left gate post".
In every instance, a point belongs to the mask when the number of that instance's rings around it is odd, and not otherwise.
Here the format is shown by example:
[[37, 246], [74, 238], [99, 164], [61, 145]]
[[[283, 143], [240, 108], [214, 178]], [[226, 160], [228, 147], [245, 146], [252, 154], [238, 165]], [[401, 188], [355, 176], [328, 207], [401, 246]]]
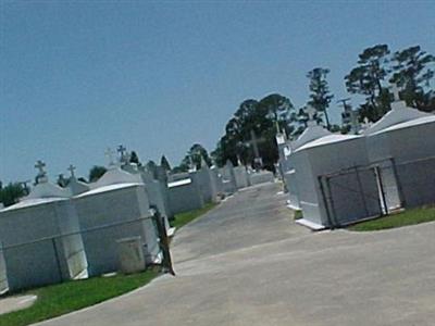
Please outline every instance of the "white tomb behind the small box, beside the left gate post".
[[139, 175], [111, 166], [92, 189], [74, 197], [89, 275], [117, 268], [116, 241], [140, 237], [147, 263], [161, 260], [145, 185]]

